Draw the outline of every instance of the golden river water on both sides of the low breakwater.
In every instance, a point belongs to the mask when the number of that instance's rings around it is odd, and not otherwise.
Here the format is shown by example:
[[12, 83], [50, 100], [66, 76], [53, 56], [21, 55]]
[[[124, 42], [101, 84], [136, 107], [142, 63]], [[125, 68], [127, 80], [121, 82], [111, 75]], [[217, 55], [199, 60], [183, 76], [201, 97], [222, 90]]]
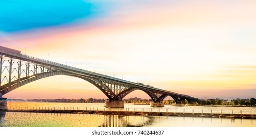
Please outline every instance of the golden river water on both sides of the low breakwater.
[[[113, 110], [103, 103], [7, 102], [8, 109]], [[118, 111], [256, 114], [256, 107], [164, 106], [124, 104]], [[116, 110], [116, 109], [114, 109]], [[256, 127], [256, 119], [149, 115], [0, 113], [0, 127]]]

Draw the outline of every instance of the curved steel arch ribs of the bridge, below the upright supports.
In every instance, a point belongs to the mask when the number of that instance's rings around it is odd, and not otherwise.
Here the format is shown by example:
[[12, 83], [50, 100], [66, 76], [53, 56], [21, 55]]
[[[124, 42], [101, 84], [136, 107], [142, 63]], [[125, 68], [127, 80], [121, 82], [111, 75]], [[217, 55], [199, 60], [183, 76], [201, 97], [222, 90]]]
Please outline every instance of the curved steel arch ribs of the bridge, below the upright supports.
[[[107, 86], [106, 83], [103, 83], [100, 79], [98, 78], [94, 78], [92, 76], [85, 76], [85, 75], [77, 75], [75, 73], [71, 73], [71, 72], [66, 72], [66, 71], [50, 71], [50, 72], [43, 72], [43, 73], [38, 73], [36, 75], [32, 75], [32, 76], [28, 76], [28, 77], [23, 77], [20, 80], [15, 80], [12, 81], [12, 85], [11, 86], [6, 86], [6, 88], [2, 88], [5, 85], [3, 85], [1, 87], [1, 91], [0, 91], [0, 97], [10, 91], [13, 91], [23, 85], [26, 85], [28, 83], [34, 82], [36, 80], [39, 79], [43, 79], [43, 78], [47, 78], [50, 76], [55, 76], [55, 75], [67, 75], [67, 76], [73, 76], [73, 77], [77, 77], [80, 79], [83, 79], [91, 84], [93, 84], [96, 88], [98, 88], [100, 91], [102, 91], [108, 98], [109, 100], [116, 100], [116, 101], [121, 101], [122, 98], [124, 98], [126, 95], [128, 95], [129, 93], [136, 91], [136, 90], [140, 90], [145, 92], [147, 95], [149, 95], [149, 97], [153, 100], [153, 102], [159, 102], [161, 103], [163, 101], [164, 98], [166, 98], [167, 96], [170, 96], [174, 99], [174, 101], [176, 103], [185, 103], [185, 100], [187, 100], [188, 103], [192, 104], [194, 103], [192, 100], [186, 99], [186, 98], [181, 98], [181, 97], [177, 97], [174, 95], [170, 95], [170, 94], [162, 94], [162, 95], [158, 95], [156, 92], [154, 91], [150, 91], [150, 90], [146, 90], [140, 87], [126, 87], [125, 90], [122, 90], [120, 92], [113, 92], [113, 89], [110, 89], [110, 87]], [[115, 88], [114, 88], [115, 91]]]

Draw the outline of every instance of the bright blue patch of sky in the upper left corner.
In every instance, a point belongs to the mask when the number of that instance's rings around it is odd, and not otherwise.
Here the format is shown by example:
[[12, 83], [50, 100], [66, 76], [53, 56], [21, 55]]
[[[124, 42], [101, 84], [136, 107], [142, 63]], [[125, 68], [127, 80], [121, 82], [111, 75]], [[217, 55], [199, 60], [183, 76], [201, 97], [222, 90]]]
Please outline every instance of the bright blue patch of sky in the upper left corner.
[[93, 4], [84, 0], [1, 0], [0, 31], [16, 32], [90, 19], [95, 11], [92, 8]]

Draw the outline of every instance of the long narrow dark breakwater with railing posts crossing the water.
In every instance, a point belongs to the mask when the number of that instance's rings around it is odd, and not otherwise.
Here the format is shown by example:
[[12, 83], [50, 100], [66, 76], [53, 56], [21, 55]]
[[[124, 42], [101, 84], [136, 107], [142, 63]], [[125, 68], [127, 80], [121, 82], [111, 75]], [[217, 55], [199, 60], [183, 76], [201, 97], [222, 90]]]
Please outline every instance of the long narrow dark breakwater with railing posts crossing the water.
[[209, 118], [214, 117], [214, 118], [249, 118], [249, 119], [256, 119], [256, 114], [204, 114], [204, 113], [83, 111], [83, 110], [0, 110], [0, 112], [60, 113], [60, 114], [117, 114], [117, 115], [153, 115], [153, 116], [185, 116], [185, 117], [209, 117]]

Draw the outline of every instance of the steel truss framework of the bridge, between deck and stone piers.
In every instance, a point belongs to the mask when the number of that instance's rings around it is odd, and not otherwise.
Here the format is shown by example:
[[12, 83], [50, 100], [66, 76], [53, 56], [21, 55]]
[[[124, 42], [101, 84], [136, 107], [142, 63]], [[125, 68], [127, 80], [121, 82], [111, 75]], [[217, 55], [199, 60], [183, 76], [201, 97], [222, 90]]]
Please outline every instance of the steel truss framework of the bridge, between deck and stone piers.
[[148, 94], [153, 102], [162, 102], [167, 96], [171, 96], [176, 103], [184, 103], [185, 99], [190, 103], [198, 101], [189, 97], [180, 97], [179, 94], [166, 93], [159, 89], [140, 86], [137, 83], [124, 82], [123, 80], [108, 78], [109, 76], [103, 77], [95, 74], [93, 72], [73, 71], [66, 67], [54, 67], [47, 63], [32, 62], [0, 54], [0, 97], [25, 84], [42, 78], [55, 75], [69, 75], [90, 82], [102, 91], [109, 100], [122, 100], [130, 92], [141, 90]]

